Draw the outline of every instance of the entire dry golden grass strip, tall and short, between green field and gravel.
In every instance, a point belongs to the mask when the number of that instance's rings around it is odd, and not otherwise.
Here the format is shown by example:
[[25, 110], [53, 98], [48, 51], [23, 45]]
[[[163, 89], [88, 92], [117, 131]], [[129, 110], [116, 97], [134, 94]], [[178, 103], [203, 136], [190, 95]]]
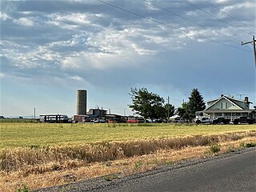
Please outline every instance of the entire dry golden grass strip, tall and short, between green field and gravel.
[[[209, 146], [218, 142], [220, 153], [242, 142], [256, 142], [255, 131], [149, 138], [126, 142], [98, 142], [73, 146], [12, 148], [0, 151], [0, 189], [15, 191], [22, 183], [30, 189], [60, 185], [107, 174], [134, 174], [184, 158], [212, 155]], [[206, 154], [206, 151], [209, 153]]]

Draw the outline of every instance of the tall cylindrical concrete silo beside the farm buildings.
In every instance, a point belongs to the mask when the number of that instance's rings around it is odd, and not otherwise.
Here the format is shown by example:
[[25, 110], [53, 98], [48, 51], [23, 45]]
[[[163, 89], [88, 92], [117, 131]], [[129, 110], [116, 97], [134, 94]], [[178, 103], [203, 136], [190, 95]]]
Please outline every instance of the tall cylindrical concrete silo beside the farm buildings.
[[86, 114], [87, 90], [77, 90], [77, 114]]

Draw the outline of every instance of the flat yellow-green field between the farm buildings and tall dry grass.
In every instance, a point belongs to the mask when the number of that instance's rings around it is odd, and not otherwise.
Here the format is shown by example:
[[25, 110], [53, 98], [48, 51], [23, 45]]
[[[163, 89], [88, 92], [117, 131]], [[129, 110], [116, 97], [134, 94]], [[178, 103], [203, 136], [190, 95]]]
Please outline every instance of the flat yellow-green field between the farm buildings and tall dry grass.
[[0, 149], [256, 130], [255, 125], [0, 123]]

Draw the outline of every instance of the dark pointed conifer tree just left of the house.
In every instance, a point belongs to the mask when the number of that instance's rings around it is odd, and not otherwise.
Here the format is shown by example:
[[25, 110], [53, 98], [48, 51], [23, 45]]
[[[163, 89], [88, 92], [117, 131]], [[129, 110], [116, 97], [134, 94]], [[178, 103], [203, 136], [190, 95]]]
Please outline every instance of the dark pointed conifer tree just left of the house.
[[199, 93], [198, 89], [193, 89], [189, 102], [187, 102], [186, 112], [188, 113], [188, 118], [195, 118], [195, 112], [206, 109], [206, 103], [203, 101], [202, 95]]

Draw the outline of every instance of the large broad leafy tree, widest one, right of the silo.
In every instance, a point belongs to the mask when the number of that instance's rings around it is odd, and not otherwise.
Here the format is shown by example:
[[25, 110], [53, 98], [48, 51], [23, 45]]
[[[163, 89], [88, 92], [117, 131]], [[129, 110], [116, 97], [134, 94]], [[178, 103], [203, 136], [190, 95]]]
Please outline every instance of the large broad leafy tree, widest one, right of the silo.
[[130, 98], [132, 104], [129, 107], [145, 119], [158, 119], [162, 118], [165, 114], [165, 108], [163, 107], [164, 99], [158, 94], [148, 92], [146, 88], [139, 90], [137, 88], [131, 88]]

